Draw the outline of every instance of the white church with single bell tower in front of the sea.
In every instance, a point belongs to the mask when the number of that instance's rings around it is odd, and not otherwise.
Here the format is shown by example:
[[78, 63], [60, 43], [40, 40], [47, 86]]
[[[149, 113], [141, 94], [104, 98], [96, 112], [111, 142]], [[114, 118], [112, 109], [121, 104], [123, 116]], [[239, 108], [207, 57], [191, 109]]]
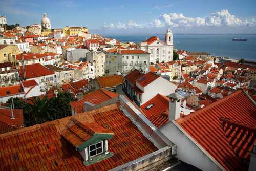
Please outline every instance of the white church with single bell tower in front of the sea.
[[150, 53], [151, 65], [159, 62], [168, 62], [173, 60], [173, 33], [170, 29], [166, 30], [165, 41], [153, 36], [139, 44], [141, 50]]

